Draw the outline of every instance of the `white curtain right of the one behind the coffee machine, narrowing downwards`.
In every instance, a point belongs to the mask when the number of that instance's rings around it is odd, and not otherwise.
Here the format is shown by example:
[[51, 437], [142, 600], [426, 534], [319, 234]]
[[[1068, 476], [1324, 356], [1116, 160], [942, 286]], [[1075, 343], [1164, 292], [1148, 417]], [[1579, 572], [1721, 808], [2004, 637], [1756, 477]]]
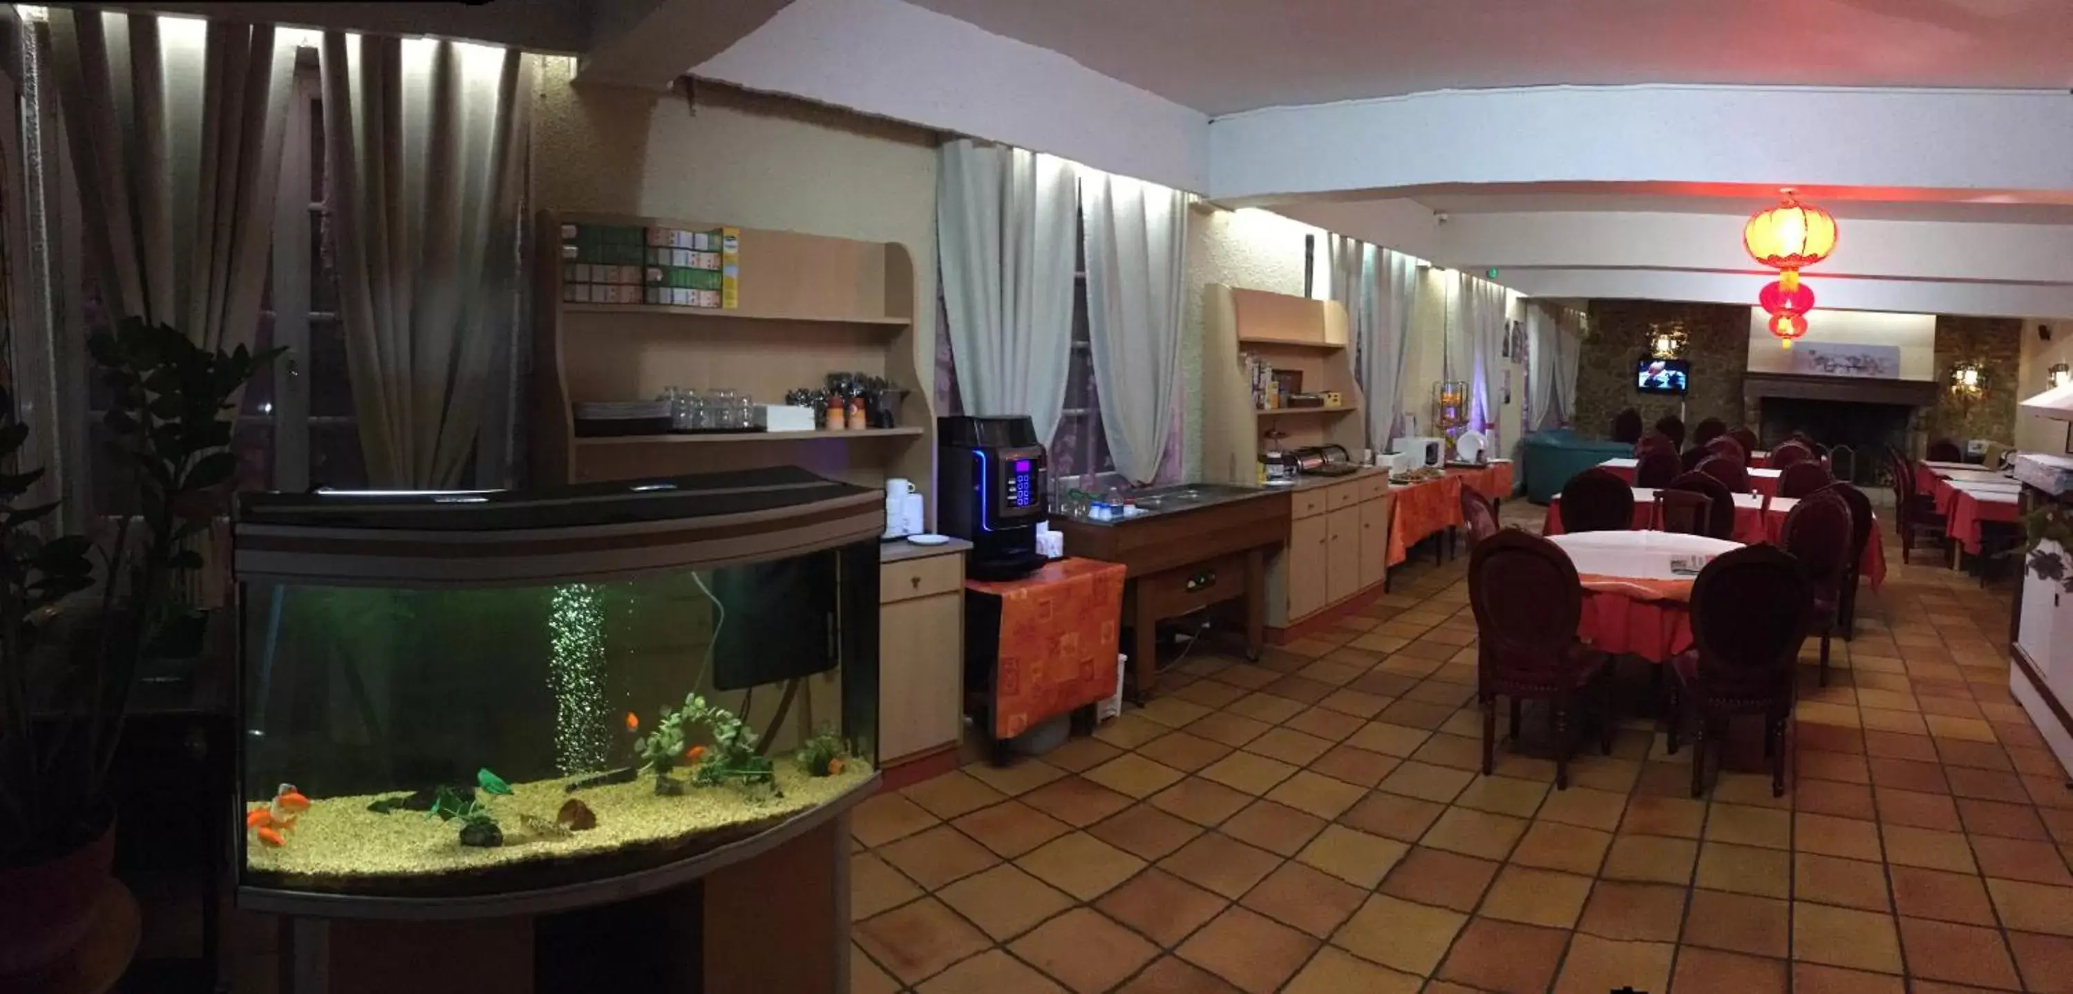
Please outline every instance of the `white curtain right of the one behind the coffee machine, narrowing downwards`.
[[1157, 183], [1080, 178], [1086, 228], [1086, 338], [1101, 396], [1101, 427], [1115, 471], [1134, 484], [1159, 475], [1180, 423], [1180, 315], [1188, 195]]

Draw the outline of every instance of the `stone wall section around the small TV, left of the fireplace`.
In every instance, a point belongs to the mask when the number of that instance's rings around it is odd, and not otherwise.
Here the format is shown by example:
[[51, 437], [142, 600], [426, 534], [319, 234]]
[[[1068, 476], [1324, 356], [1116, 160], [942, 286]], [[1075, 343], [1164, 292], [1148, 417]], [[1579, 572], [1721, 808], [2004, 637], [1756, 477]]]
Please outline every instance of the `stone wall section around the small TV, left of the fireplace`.
[[[1681, 320], [1692, 361], [1692, 392], [1683, 398], [1644, 394], [1634, 388], [1634, 361], [1648, 351], [1648, 326]], [[2011, 353], [2013, 355], [2013, 353]], [[1673, 301], [1590, 301], [1590, 334], [1575, 374], [1575, 417], [1580, 436], [1605, 438], [1613, 415], [1634, 407], [1642, 423], [1679, 413], [1685, 425], [1719, 417], [1743, 421], [1741, 374], [1750, 365], [1750, 309], [1723, 303]]]

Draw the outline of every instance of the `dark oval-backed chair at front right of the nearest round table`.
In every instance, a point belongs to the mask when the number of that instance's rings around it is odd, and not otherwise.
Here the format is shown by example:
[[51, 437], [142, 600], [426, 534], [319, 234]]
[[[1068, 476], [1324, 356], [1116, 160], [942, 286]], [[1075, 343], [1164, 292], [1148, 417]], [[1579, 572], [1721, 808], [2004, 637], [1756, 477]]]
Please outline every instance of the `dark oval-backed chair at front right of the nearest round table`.
[[1770, 797], [1785, 795], [1785, 722], [1812, 602], [1799, 562], [1766, 544], [1723, 552], [1692, 583], [1692, 650], [1671, 660], [1667, 716], [1671, 753], [1685, 718], [1696, 720], [1692, 797], [1706, 789], [1706, 745], [1727, 739], [1733, 714], [1764, 718]]

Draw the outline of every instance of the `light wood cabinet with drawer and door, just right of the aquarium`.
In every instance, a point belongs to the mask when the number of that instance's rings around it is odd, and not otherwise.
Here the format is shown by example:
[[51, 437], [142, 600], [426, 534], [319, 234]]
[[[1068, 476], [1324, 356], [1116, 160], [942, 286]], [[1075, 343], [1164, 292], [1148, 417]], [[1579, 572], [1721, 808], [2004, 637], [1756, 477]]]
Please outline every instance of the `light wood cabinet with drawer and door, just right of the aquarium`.
[[964, 733], [964, 556], [879, 567], [879, 766]]

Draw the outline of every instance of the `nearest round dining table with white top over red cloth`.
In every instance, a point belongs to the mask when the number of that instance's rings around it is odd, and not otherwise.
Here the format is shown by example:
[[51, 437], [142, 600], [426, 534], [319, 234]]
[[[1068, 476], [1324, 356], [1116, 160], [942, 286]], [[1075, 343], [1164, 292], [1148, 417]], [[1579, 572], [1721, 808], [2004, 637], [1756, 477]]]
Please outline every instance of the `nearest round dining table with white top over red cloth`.
[[1580, 531], [1551, 535], [1584, 587], [1578, 639], [1594, 650], [1669, 662], [1692, 647], [1692, 583], [1698, 569], [1741, 548], [1671, 531]]

